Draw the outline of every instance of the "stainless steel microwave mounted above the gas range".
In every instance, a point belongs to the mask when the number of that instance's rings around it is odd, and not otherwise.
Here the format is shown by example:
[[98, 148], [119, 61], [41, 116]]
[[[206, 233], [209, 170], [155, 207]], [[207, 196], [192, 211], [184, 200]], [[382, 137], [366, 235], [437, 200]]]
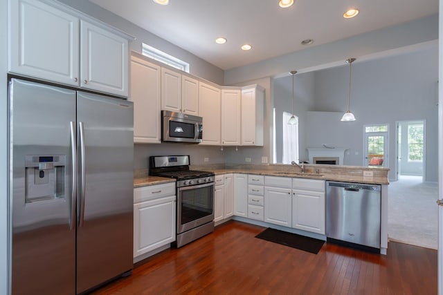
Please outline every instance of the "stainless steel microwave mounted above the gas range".
[[161, 111], [161, 141], [188, 142], [198, 144], [203, 136], [203, 118], [177, 113]]

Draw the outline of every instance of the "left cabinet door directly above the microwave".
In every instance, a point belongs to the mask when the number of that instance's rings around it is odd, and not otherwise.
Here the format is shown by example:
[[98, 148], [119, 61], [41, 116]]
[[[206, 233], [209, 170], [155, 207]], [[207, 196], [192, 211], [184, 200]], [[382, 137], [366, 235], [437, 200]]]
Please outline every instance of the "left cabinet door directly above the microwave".
[[161, 109], [181, 112], [181, 74], [161, 68]]

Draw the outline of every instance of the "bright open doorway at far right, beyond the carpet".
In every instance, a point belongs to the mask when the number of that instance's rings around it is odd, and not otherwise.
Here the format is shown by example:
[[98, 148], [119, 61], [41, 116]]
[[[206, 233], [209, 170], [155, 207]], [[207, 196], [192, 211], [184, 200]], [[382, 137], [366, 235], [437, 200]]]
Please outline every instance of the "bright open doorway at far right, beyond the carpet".
[[397, 180], [401, 175], [408, 175], [426, 181], [425, 132], [425, 120], [397, 122]]

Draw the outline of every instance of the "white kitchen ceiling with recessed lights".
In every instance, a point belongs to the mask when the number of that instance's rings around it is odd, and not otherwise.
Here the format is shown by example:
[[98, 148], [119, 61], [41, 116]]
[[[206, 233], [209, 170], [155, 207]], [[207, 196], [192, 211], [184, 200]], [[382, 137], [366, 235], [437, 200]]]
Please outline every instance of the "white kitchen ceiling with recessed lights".
[[[305, 49], [303, 39], [318, 46], [438, 12], [438, 0], [296, 0], [286, 9], [278, 0], [90, 1], [223, 70]], [[360, 14], [344, 19], [352, 7]]]

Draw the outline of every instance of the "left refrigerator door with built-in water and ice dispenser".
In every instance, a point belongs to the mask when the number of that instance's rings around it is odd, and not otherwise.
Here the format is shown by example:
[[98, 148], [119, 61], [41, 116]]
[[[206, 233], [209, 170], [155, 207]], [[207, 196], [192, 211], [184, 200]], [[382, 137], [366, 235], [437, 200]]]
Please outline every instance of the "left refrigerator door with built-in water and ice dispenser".
[[73, 294], [75, 91], [19, 79], [9, 91], [12, 294]]

